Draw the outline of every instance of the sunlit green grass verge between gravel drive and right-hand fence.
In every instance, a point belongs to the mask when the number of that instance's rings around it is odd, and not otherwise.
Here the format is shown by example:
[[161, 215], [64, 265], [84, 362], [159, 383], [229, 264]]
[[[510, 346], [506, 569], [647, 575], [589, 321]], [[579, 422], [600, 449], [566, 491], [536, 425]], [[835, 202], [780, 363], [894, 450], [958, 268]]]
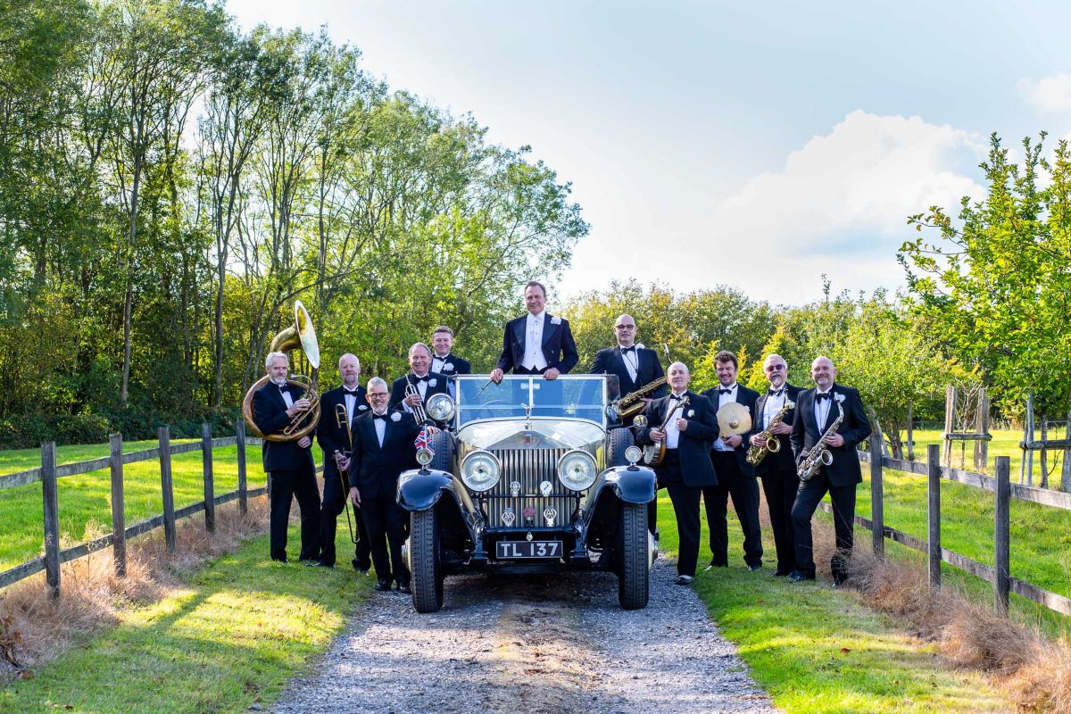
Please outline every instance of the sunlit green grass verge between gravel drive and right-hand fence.
[[[695, 589], [755, 681], [795, 712], [1007, 712], [1014, 708], [981, 674], [945, 666], [933, 645], [864, 607], [858, 593], [821, 582], [789, 583], [770, 568], [743, 567], [740, 528], [730, 516], [728, 568], [700, 572]], [[673, 506], [659, 499], [663, 550], [676, 557]], [[857, 547], [865, 547], [857, 533]], [[769, 531], [764, 548], [773, 553]], [[707, 558], [707, 532], [699, 552]]]

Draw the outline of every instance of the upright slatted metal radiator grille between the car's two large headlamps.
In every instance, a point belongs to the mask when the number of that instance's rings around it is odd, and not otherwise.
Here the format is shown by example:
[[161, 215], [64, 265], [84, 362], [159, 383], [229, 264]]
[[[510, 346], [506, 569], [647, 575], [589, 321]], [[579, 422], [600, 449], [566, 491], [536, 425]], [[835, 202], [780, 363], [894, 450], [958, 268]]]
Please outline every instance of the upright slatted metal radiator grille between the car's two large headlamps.
[[[487, 496], [487, 517], [491, 528], [528, 528], [545, 527], [543, 512], [550, 507], [557, 512], [553, 526], [562, 527], [569, 523], [570, 516], [576, 505], [572, 491], [565, 489], [558, 481], [558, 459], [564, 449], [506, 449], [492, 450], [492, 453], [502, 462], [502, 477], [498, 485]], [[540, 484], [550, 482], [549, 497], [540, 491]], [[512, 496], [513, 484], [521, 484], [519, 496]], [[513, 508], [514, 520], [507, 526], [502, 513]], [[525, 510], [532, 514], [532, 520], [526, 522]]]

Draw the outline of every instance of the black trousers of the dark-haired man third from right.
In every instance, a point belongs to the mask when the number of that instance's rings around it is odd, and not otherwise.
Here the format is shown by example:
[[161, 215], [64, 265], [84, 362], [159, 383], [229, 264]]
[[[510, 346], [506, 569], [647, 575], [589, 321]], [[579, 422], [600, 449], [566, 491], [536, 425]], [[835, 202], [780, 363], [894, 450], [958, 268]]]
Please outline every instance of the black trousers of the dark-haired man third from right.
[[728, 565], [729, 530], [725, 514], [728, 497], [733, 497], [733, 507], [740, 519], [743, 531], [743, 562], [748, 565], [763, 564], [763, 532], [758, 526], [758, 484], [754, 476], [740, 470], [735, 452], [710, 452], [710, 460], [718, 474], [716, 486], [703, 489], [703, 502], [707, 507], [707, 528], [710, 529], [710, 564]]

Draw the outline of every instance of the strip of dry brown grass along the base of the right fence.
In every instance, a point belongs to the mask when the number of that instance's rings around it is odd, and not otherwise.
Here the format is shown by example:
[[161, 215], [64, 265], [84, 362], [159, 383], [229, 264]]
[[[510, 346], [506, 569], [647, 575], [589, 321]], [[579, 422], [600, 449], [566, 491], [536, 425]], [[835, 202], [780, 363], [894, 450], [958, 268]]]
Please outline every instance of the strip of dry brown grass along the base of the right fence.
[[[825, 548], [829, 548], [828, 531]], [[816, 538], [817, 542], [817, 538]], [[817, 545], [817, 543], [816, 543]], [[858, 544], [857, 544], [858, 545]], [[994, 673], [1028, 712], [1071, 714], [1071, 647], [980, 605], [954, 588], [930, 590], [917, 564], [879, 560], [864, 546], [851, 561], [855, 584], [866, 604], [903, 619], [939, 643], [956, 665]]]

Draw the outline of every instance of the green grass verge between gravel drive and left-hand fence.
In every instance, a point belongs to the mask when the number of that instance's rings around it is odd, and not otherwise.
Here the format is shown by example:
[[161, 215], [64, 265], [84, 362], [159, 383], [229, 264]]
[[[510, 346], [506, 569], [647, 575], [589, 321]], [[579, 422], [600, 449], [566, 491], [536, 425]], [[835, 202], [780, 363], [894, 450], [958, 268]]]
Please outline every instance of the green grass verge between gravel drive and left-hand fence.
[[[345, 528], [337, 547], [350, 547]], [[120, 612], [115, 628], [0, 688], [0, 713], [205, 714], [267, 704], [327, 650], [373, 582], [348, 567], [273, 563], [267, 536], [183, 580], [177, 594]]]

